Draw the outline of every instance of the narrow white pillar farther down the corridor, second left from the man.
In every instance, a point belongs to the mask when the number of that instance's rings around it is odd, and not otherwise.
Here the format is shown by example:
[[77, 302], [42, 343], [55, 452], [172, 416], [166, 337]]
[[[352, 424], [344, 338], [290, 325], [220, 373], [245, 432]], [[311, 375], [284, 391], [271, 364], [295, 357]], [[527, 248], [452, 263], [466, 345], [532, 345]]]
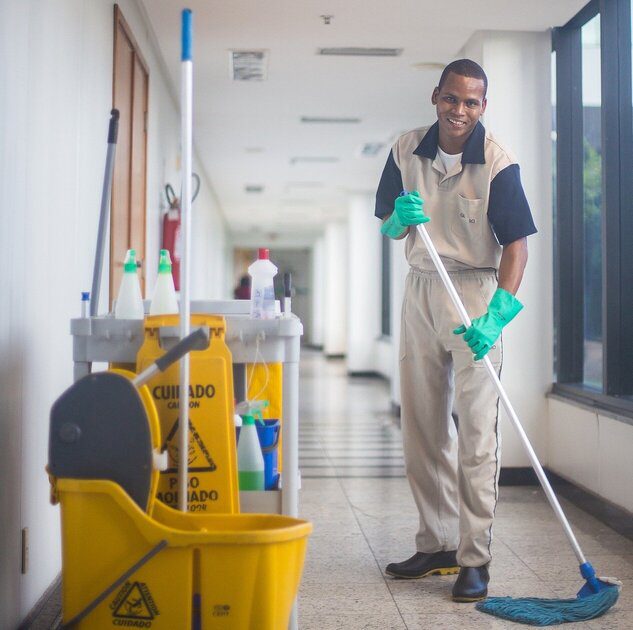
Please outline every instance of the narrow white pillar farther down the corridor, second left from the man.
[[347, 226], [328, 223], [325, 228], [324, 352], [327, 356], [347, 351]]

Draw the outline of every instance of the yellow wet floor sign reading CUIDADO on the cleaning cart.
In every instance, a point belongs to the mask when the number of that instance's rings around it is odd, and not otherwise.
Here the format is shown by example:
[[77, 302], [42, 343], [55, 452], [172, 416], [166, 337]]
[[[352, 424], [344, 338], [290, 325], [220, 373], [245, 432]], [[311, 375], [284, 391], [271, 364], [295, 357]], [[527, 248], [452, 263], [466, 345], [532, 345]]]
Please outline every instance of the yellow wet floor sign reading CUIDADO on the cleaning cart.
[[[145, 341], [139, 350], [136, 369], [141, 372], [161, 356], [161, 327], [177, 327], [177, 315], [145, 319]], [[187, 505], [190, 511], [239, 512], [237, 455], [233, 422], [233, 370], [231, 353], [224, 341], [223, 317], [193, 315], [191, 327], [209, 328], [209, 347], [190, 353], [189, 372], [189, 468]], [[161, 425], [162, 450], [169, 454], [167, 470], [161, 472], [157, 498], [178, 505], [178, 449], [180, 374], [178, 364], [148, 383]]]

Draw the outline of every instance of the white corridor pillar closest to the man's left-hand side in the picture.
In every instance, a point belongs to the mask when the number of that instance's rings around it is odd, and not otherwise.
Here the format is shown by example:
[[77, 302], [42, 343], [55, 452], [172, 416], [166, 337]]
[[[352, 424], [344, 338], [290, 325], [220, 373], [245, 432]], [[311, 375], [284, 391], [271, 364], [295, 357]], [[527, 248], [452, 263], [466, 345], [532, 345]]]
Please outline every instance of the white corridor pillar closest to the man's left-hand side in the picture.
[[375, 344], [380, 336], [382, 237], [380, 223], [373, 215], [373, 195], [351, 198], [347, 231], [349, 372], [373, 372], [377, 369]]

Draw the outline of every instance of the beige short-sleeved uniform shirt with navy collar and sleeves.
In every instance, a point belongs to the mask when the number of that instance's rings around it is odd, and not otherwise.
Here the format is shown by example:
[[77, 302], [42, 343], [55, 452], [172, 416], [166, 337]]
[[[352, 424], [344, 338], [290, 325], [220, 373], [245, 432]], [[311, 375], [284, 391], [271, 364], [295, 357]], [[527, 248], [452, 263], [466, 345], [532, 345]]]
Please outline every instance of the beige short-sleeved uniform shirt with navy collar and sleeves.
[[[478, 123], [462, 159], [447, 173], [437, 155], [438, 125], [403, 134], [394, 144], [376, 196], [376, 216], [393, 211], [402, 190], [417, 190], [425, 227], [450, 270], [498, 269], [502, 245], [536, 232], [512, 153]], [[417, 230], [406, 242], [409, 265], [435, 267]]]

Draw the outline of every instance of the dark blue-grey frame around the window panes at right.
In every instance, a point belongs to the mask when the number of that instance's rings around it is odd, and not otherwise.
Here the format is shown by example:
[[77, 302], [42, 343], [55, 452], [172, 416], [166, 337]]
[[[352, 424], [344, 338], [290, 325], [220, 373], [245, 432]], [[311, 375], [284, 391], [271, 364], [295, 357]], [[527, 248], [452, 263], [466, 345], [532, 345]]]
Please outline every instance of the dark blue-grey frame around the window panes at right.
[[[600, 14], [602, 390], [583, 384], [581, 28]], [[592, 0], [552, 33], [556, 53], [556, 382], [552, 391], [633, 418], [631, 0]], [[623, 141], [624, 139], [624, 141]], [[628, 168], [627, 168], [628, 166]]]

